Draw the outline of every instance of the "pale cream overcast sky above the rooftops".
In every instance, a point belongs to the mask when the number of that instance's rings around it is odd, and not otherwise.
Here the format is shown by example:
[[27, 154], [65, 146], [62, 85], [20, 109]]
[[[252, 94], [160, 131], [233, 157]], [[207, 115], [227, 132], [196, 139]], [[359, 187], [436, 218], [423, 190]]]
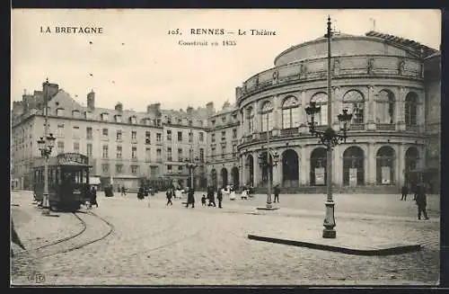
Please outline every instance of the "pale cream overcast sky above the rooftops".
[[[322, 37], [330, 14], [337, 31], [364, 35], [374, 29], [438, 49], [438, 10], [33, 10], [12, 12], [12, 101], [41, 89], [46, 77], [78, 102], [93, 89], [96, 106], [145, 111], [235, 100], [235, 87], [273, 67], [290, 46]], [[41, 33], [47, 26], [51, 33]], [[102, 27], [102, 34], [57, 34], [55, 26]], [[207, 36], [192, 28], [276, 36]], [[169, 35], [180, 29], [181, 36]], [[235, 40], [236, 46], [180, 46], [179, 40]], [[92, 42], [92, 44], [90, 44]], [[91, 76], [92, 74], [92, 76]], [[113, 81], [113, 82], [112, 82]]]

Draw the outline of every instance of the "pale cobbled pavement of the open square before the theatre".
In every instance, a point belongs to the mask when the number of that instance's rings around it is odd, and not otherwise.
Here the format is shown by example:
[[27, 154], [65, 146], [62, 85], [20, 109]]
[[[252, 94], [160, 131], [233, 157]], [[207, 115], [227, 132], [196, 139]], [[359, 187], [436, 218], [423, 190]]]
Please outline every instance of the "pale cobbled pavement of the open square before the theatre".
[[[386, 209], [394, 213], [384, 216], [378, 210], [383, 204], [389, 205], [378, 202], [383, 198], [366, 203], [372, 205], [373, 214], [358, 213], [363, 218], [358, 217], [355, 209], [337, 210], [338, 236], [424, 242], [418, 253], [357, 256], [258, 242], [247, 237], [250, 232], [321, 234], [323, 201], [316, 210], [310, 209], [309, 214], [295, 214], [292, 204], [288, 208], [291, 215], [283, 215], [286, 197], [281, 196], [279, 213], [257, 215], [254, 208], [263, 204], [262, 195], [248, 201], [225, 200], [224, 209], [201, 207], [200, 195], [196, 195], [195, 209], [187, 209], [182, 207], [181, 200], [173, 200], [173, 206], [166, 207], [163, 193], [150, 197], [150, 208], [146, 199], [137, 200], [133, 194], [112, 198], [99, 194], [100, 207], [92, 210], [114, 225], [113, 233], [69, 254], [40, 260], [37, 270], [45, 275], [45, 284], [435, 285], [438, 280], [436, 212], [430, 215], [431, 221], [415, 220], [415, 213], [408, 216], [404, 211], [411, 201], [395, 199], [401, 203], [397, 205], [398, 211]], [[26, 197], [13, 195], [13, 203], [15, 198]], [[340, 197], [341, 203], [343, 198]], [[309, 202], [312, 201], [301, 202], [304, 210]], [[343, 213], [348, 217], [340, 217]], [[47, 229], [39, 226], [43, 218], [36, 219], [36, 227], [24, 225], [18, 229], [19, 234], [45, 236]], [[67, 227], [75, 226], [69, 219], [66, 221]], [[13, 274], [12, 281], [30, 283], [21, 273]]]

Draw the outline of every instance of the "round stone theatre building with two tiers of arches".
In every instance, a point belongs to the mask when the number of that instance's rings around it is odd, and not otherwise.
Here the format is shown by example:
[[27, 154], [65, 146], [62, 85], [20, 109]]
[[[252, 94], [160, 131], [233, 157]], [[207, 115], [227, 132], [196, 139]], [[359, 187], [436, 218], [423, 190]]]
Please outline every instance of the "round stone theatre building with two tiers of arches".
[[[304, 108], [321, 106], [318, 128], [337, 128], [352, 113], [348, 140], [334, 148], [332, 183], [340, 191], [398, 192], [421, 177], [439, 190], [440, 55], [418, 42], [370, 31], [331, 40], [331, 111], [327, 120], [327, 39], [281, 52], [274, 67], [236, 88], [242, 138], [240, 182], [267, 186], [268, 174], [284, 191], [321, 191], [326, 149], [309, 133]], [[428, 75], [428, 76], [427, 76]], [[276, 166], [258, 164], [267, 136]], [[271, 157], [273, 158], [273, 156]], [[271, 159], [272, 160], [272, 159]], [[432, 166], [431, 166], [432, 165]], [[271, 173], [268, 173], [268, 168]], [[347, 188], [348, 187], [348, 188]]]

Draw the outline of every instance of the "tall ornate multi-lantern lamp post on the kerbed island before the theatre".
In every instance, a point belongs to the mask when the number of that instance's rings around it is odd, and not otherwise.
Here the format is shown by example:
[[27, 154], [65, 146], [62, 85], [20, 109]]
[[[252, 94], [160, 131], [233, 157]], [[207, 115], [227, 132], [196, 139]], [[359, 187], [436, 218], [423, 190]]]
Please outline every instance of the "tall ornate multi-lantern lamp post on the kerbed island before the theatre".
[[332, 114], [331, 114], [331, 87], [330, 87], [330, 61], [331, 61], [331, 55], [330, 55], [330, 38], [332, 36], [332, 31], [330, 29], [330, 17], [328, 17], [328, 33], [325, 35], [325, 37], [328, 39], [328, 128], [324, 131], [320, 131], [315, 129], [316, 127], [316, 121], [314, 120], [314, 115], [316, 113], [319, 113], [321, 111], [321, 107], [317, 107], [315, 102], [311, 102], [310, 106], [305, 109], [305, 112], [307, 113], [307, 119], [310, 121], [309, 124], [309, 130], [311, 134], [314, 137], [320, 138], [321, 144], [327, 147], [327, 167], [326, 167], [326, 184], [327, 184], [327, 200], [324, 203], [326, 206], [326, 218], [324, 218], [324, 229], [322, 231], [322, 237], [324, 238], [335, 238], [337, 237], [337, 232], [334, 229], [335, 227], [335, 217], [334, 217], [334, 209], [335, 209], [335, 203], [332, 199], [332, 148], [337, 146], [339, 144], [339, 141], [346, 142], [346, 138], [348, 138], [348, 129], [349, 129], [349, 123], [352, 120], [352, 114], [348, 113], [348, 110], [344, 109], [341, 114], [339, 114], [337, 117], [339, 119], [339, 131], [340, 133], [336, 132], [334, 129], [332, 129]]

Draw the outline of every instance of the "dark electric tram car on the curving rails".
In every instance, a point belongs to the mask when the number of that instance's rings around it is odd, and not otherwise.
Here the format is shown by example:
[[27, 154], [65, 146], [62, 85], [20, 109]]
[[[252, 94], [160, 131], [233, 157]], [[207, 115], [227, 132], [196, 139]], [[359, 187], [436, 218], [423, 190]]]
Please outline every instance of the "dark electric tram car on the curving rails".
[[[43, 200], [44, 160], [39, 158], [33, 167], [34, 198]], [[75, 211], [90, 197], [89, 157], [78, 153], [63, 153], [48, 157], [48, 198], [52, 210]]]

